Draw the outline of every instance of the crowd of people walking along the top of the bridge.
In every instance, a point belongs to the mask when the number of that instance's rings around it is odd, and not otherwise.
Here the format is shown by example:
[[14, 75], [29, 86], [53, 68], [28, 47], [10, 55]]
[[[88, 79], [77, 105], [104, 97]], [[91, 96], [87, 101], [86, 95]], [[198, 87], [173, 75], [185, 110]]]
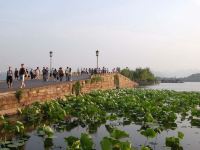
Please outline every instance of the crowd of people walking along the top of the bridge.
[[[111, 72], [119, 72], [119, 68], [114, 68]], [[108, 68], [103, 67], [100, 68], [81, 68], [81, 70], [77, 70], [76, 75], [83, 75], [83, 74], [105, 74], [105, 73], [111, 73], [109, 72]], [[6, 75], [6, 81], [8, 88], [11, 88], [13, 85], [13, 80], [19, 80], [21, 81], [20, 88], [24, 88], [25, 85], [25, 79], [30, 80], [43, 80], [44, 82], [47, 82], [49, 79], [53, 79], [54, 81], [72, 81], [72, 69], [70, 67], [66, 67], [66, 69], [63, 69], [60, 67], [59, 69], [53, 68], [49, 70], [48, 67], [43, 67], [42, 70], [40, 70], [39, 67], [36, 69], [25, 69], [24, 64], [21, 64], [20, 69], [18, 70], [15, 68], [14, 72], [11, 67], [8, 68], [7, 75]]]

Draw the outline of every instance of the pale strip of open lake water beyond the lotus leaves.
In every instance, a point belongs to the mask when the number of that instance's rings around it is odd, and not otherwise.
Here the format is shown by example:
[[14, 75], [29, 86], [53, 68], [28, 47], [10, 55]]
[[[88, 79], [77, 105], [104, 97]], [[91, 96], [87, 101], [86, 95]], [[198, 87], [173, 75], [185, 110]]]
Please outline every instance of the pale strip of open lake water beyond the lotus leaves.
[[185, 83], [160, 83], [153, 86], [146, 86], [146, 89], [166, 89], [174, 91], [200, 91], [200, 82], [185, 82]]

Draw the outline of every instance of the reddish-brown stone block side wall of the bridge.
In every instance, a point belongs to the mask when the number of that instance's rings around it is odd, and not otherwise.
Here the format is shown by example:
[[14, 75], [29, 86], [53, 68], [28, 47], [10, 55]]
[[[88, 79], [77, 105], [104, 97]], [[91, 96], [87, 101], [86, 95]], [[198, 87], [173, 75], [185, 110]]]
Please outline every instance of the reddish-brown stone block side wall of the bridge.
[[[134, 88], [137, 83], [130, 81], [128, 78], [117, 74], [119, 77], [120, 88]], [[89, 93], [92, 90], [108, 90], [115, 89], [115, 74], [101, 75], [102, 81], [91, 83], [91, 80], [81, 80], [81, 93]], [[51, 99], [62, 98], [65, 95], [72, 94], [72, 87], [75, 81], [68, 83], [58, 83], [37, 88], [24, 89], [22, 98], [18, 100], [15, 96], [16, 92], [8, 92], [0, 94], [0, 115], [15, 114], [18, 108], [30, 105], [36, 101], [44, 102]]]

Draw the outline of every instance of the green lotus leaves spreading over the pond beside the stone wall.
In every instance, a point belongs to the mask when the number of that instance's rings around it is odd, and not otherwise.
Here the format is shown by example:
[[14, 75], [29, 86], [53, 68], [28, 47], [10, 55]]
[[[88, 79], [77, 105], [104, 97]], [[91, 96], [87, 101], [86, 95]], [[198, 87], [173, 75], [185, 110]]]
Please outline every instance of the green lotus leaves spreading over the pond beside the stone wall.
[[[67, 148], [93, 149], [95, 146], [90, 134], [105, 125], [109, 136], [103, 137], [100, 142], [103, 150], [131, 150], [133, 146], [127, 140], [129, 134], [109, 124], [109, 121], [120, 120], [124, 126], [140, 125], [138, 132], [141, 136], [147, 140], [156, 139], [163, 131], [175, 130], [177, 119], [189, 120], [191, 126], [200, 127], [199, 105], [200, 93], [197, 92], [143, 89], [93, 91], [56, 101], [37, 102], [23, 108], [19, 114], [20, 120], [16, 122], [0, 117], [0, 132], [4, 136], [0, 147], [9, 148], [8, 145], [14, 143], [13, 139], [7, 139], [8, 134], [14, 134], [17, 137], [15, 142], [20, 145], [18, 141], [26, 136], [26, 126], [36, 127], [37, 135], [43, 137], [44, 145], [48, 148], [53, 144], [55, 131], [70, 131], [81, 126], [88, 133], [82, 133], [81, 137], [66, 137]], [[180, 140], [183, 138], [182, 132], [178, 132], [178, 137], [167, 137], [166, 146], [181, 149]], [[153, 148], [145, 142], [141, 149]]]

